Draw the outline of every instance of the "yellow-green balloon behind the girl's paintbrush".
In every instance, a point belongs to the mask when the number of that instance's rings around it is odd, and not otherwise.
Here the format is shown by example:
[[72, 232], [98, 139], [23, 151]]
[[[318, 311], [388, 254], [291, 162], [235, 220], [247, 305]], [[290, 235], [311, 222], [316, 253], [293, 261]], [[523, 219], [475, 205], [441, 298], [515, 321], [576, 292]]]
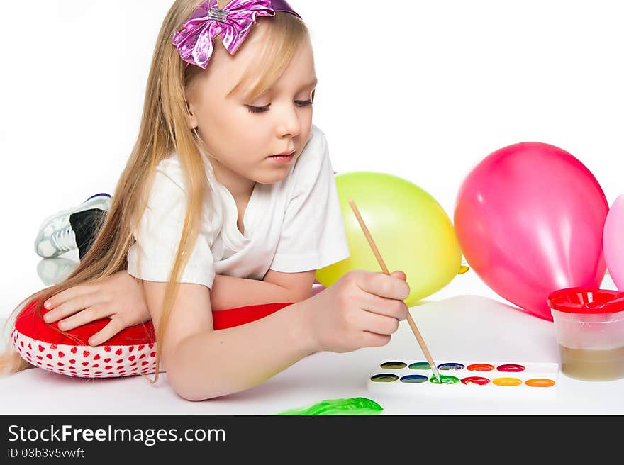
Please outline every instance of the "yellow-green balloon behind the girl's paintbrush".
[[316, 271], [331, 286], [347, 271], [381, 271], [379, 263], [349, 206], [352, 199], [389, 271], [407, 276], [407, 306], [439, 291], [457, 276], [462, 252], [452, 222], [430, 194], [391, 174], [346, 172], [335, 176], [345, 220], [350, 257]]

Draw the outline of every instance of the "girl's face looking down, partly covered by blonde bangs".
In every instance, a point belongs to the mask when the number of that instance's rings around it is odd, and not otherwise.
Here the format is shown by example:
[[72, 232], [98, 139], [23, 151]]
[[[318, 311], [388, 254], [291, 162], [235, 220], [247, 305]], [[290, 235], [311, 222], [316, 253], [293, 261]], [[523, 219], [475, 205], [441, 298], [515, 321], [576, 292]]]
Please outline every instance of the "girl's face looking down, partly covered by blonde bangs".
[[[206, 71], [187, 89], [191, 127], [206, 144], [216, 178], [233, 194], [282, 181], [312, 125], [316, 72], [309, 38], [269, 91], [253, 101], [245, 99], [245, 89], [228, 96], [263, 52], [266, 32], [266, 23], [257, 23], [234, 56], [216, 43]], [[291, 155], [275, 157], [280, 154]]]

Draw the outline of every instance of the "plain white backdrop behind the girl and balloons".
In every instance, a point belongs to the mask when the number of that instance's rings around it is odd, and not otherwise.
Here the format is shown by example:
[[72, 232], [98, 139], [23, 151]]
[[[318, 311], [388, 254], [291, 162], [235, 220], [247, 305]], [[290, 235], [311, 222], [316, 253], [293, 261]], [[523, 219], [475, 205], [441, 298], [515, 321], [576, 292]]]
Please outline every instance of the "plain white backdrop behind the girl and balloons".
[[[1, 2], [0, 316], [43, 286], [33, 251], [43, 218], [113, 191], [171, 3]], [[538, 141], [584, 162], [610, 204], [624, 191], [618, 1], [291, 4], [311, 30], [315, 123], [337, 171], [404, 177], [452, 218], [472, 167]], [[474, 281], [469, 292], [496, 298]], [[461, 286], [458, 276], [431, 298]]]

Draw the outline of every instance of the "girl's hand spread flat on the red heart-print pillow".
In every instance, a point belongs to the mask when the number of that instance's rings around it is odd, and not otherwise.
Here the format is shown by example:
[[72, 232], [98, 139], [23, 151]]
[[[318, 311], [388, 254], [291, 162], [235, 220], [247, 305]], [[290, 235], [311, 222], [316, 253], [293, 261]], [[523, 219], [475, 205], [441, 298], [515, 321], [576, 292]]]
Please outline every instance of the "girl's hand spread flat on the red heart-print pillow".
[[45, 301], [44, 306], [50, 311], [43, 319], [47, 323], [61, 320], [58, 326], [62, 331], [111, 318], [108, 325], [89, 338], [91, 346], [102, 344], [126, 327], [151, 318], [142, 284], [126, 271], [119, 271], [99, 283], [79, 284], [57, 293]]

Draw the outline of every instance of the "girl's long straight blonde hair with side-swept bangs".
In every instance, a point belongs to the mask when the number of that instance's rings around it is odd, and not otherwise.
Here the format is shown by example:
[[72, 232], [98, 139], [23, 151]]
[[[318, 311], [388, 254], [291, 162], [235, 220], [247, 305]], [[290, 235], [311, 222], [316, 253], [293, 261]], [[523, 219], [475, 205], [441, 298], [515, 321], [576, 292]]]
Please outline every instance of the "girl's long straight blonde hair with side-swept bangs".
[[[203, 70], [193, 65], [187, 67], [186, 62], [172, 45], [174, 31], [182, 29], [182, 24], [202, 1], [177, 0], [165, 16], [147, 78], [138, 139], [118, 180], [110, 211], [89, 252], [65, 281], [38, 291], [20, 303], [7, 322], [7, 324], [11, 322], [11, 327], [25, 303], [37, 299], [36, 313], [41, 318], [43, 302], [51, 296], [77, 284], [101, 281], [118, 271], [127, 269], [128, 249], [134, 242], [133, 230], [138, 227], [141, 215], [145, 211], [155, 169], [162, 159], [176, 152], [184, 172], [188, 198], [182, 237], [167, 283], [162, 316], [156, 335], [158, 342], [156, 366], [160, 366], [160, 348], [163, 345], [165, 328], [177, 293], [180, 276], [186, 267], [199, 232], [202, 202], [209, 192], [201, 155], [203, 142], [196, 131], [189, 128], [189, 107], [186, 103], [186, 89]], [[219, 6], [223, 7], [225, 3], [220, 0]], [[308, 30], [303, 21], [289, 13], [278, 12], [272, 18], [259, 18], [259, 21], [269, 21], [270, 24], [264, 53], [258, 58], [257, 65], [248, 70], [242, 81], [232, 91], [238, 91], [242, 87], [250, 89], [247, 92], [250, 99], [260, 96], [277, 82], [301, 40], [308, 36]], [[223, 45], [217, 38], [215, 47], [219, 46]], [[72, 337], [67, 332], [57, 331]], [[74, 340], [77, 339], [74, 337]], [[9, 374], [33, 367], [21, 358], [9, 341], [6, 352], [0, 355], [0, 374]], [[150, 382], [155, 383], [157, 379], [158, 369], [155, 379]]]

